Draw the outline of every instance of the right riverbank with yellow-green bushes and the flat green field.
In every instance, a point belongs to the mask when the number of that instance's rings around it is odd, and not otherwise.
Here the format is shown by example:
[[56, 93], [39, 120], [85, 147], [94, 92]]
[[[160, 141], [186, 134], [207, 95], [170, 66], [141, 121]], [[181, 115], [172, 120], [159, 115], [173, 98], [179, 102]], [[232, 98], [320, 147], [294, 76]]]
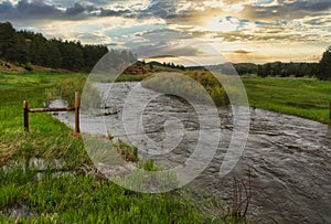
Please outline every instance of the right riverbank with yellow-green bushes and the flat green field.
[[[218, 82], [212, 76], [199, 72], [185, 72], [184, 75], [201, 83], [216, 105], [226, 105], [225, 92], [216, 85]], [[316, 78], [295, 77], [248, 77], [244, 76], [250, 107], [293, 115], [323, 124], [331, 124], [329, 119], [329, 105], [331, 102], [331, 82]], [[186, 82], [188, 83], [188, 82]], [[188, 98], [200, 99], [202, 93], [184, 81], [170, 78], [147, 79], [145, 87], [164, 93], [186, 95]], [[164, 90], [166, 89], [166, 90]], [[234, 89], [235, 90], [235, 89]], [[203, 98], [203, 97], [202, 97]], [[203, 100], [202, 100], [203, 102]]]

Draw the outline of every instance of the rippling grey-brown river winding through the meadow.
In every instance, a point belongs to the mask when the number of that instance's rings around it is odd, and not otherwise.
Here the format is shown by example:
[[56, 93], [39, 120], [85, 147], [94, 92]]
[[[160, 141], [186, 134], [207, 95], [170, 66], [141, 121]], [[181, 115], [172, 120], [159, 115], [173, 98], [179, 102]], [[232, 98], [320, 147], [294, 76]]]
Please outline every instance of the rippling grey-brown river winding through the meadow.
[[[149, 102], [142, 120], [146, 135], [166, 151], [167, 147], [177, 145], [166, 154], [151, 156], [148, 149], [153, 146], [147, 143], [146, 136], [130, 131], [131, 136], [127, 136], [128, 131], [122, 125], [122, 111], [127, 109], [124, 107], [125, 99], [137, 83], [115, 84], [110, 95], [108, 84], [97, 86], [106, 99], [106, 109], [94, 115], [82, 114], [83, 131], [100, 135], [110, 132], [121, 139], [134, 139], [135, 145], [139, 145], [140, 157], [152, 158], [164, 167], [184, 163], [194, 151], [200, 124], [192, 106], [169, 96], [154, 98], [154, 92], [140, 88], [135, 96], [137, 103], [139, 98], [141, 102], [148, 98]], [[204, 109], [209, 111], [207, 106]], [[225, 178], [220, 178], [220, 167], [233, 131], [232, 110], [218, 108], [218, 116], [222, 137], [217, 151], [192, 185], [231, 201], [233, 177], [247, 180], [250, 175], [253, 196], [248, 213], [257, 223], [331, 223], [331, 127], [250, 109], [250, 131], [245, 151], [235, 169]], [[71, 114], [62, 113], [56, 117], [74, 126]], [[181, 138], [175, 138], [173, 142], [164, 141], [167, 132], [179, 132]], [[211, 135], [205, 142], [216, 140]], [[141, 141], [137, 142], [137, 139]]]

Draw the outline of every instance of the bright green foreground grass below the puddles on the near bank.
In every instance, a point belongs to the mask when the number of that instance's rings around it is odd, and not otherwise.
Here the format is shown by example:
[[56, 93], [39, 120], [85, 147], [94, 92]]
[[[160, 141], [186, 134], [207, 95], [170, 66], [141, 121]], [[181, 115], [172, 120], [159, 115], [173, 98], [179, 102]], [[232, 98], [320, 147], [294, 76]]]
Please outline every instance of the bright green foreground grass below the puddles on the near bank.
[[0, 172], [0, 210], [25, 205], [39, 217], [21, 222], [60, 223], [197, 223], [192, 205], [174, 194], [141, 194], [109, 181], [75, 174], [52, 178], [20, 170]]

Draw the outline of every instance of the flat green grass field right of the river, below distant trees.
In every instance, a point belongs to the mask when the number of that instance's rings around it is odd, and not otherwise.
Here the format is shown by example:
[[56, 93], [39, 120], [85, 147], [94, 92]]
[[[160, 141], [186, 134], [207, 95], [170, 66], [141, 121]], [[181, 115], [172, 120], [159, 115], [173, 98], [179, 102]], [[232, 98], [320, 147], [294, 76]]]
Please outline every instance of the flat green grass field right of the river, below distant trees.
[[331, 82], [277, 77], [245, 77], [243, 82], [252, 107], [331, 124]]

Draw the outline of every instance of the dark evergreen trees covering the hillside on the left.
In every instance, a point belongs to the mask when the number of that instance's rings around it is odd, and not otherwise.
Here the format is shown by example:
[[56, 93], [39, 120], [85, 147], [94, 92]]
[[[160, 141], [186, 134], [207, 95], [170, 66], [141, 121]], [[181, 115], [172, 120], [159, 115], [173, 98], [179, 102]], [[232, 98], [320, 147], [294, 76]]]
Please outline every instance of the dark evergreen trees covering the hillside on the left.
[[45, 39], [41, 33], [15, 31], [11, 23], [0, 23], [0, 58], [19, 63], [31, 70], [33, 65], [89, 72], [109, 53], [110, 64], [134, 63], [136, 55], [122, 50], [108, 51], [106, 45], [83, 45], [79, 41]]

